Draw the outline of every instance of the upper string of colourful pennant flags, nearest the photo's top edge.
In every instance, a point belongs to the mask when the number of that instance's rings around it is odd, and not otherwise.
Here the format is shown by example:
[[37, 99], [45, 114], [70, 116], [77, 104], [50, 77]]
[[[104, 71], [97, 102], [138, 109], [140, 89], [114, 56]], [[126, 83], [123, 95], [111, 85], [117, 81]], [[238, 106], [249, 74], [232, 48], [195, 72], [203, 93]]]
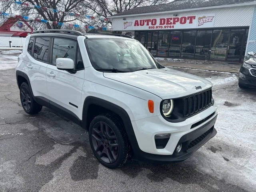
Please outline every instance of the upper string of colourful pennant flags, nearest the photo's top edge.
[[[20, 6], [24, 6], [24, 7], [34, 8], [34, 9], [37, 9], [37, 10], [41, 9], [43, 11], [49, 11], [49, 12], [53, 12], [53, 13], [62, 13], [64, 15], [74, 16], [74, 17], [77, 17], [77, 18], [87, 18], [87, 19], [91, 19], [91, 20], [95, 19], [94, 16], [90, 16], [90, 15], [81, 15], [81, 14], [72, 13], [72, 12], [65, 12], [65, 11], [61, 11], [61, 10], [58, 10], [58, 9], [42, 7], [42, 6], [39, 6], [39, 5], [33, 5], [33, 4], [29, 4], [29, 3], [26, 3], [26, 2], [20, 2], [20, 1], [16, 1], [16, 0], [0, 0], [0, 1], [7, 1], [7, 2], [10, 2], [10, 3], [14, 3], [14, 4], [17, 4], [17, 5], [20, 5]], [[106, 22], [109, 21], [108, 18], [104, 18], [104, 17], [100, 17], [99, 20], [100, 21], [106, 21]]]

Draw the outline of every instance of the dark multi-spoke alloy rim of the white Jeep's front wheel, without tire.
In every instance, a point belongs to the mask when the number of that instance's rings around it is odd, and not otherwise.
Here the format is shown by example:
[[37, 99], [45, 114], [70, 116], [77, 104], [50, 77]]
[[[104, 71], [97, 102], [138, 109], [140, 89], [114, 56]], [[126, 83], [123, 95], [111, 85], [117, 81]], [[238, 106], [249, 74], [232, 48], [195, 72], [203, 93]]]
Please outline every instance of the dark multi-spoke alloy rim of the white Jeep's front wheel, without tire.
[[92, 145], [99, 158], [114, 163], [118, 157], [119, 145], [116, 134], [105, 122], [97, 122], [92, 128]]

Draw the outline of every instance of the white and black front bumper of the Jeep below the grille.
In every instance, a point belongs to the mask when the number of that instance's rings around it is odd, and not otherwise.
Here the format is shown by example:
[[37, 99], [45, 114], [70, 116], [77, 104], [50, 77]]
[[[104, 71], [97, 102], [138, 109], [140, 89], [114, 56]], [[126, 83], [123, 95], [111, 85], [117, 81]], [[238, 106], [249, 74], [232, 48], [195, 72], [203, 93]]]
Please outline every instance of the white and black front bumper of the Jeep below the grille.
[[[192, 128], [192, 125], [204, 120], [208, 116], [210, 118]], [[162, 116], [132, 121], [132, 127], [136, 136], [136, 147], [132, 144], [134, 154], [139, 160], [147, 161], [179, 162], [185, 160], [216, 135], [217, 132], [214, 128], [216, 118], [217, 107], [214, 104], [214, 106], [183, 122], [171, 123]], [[171, 134], [171, 136], [165, 148], [156, 148], [154, 136], [167, 133]], [[194, 145], [192, 145], [192, 142]], [[176, 147], [180, 143], [182, 143], [182, 150], [176, 153]]]

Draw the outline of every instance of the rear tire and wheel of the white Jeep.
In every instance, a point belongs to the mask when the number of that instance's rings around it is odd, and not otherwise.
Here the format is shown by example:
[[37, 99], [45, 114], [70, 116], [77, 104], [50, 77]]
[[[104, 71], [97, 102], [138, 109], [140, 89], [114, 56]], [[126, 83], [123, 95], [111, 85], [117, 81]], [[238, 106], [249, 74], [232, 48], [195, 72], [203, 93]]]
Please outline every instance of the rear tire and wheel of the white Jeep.
[[28, 114], [36, 114], [42, 110], [42, 105], [33, 99], [33, 95], [26, 82], [23, 82], [20, 86], [20, 102], [24, 111]]

